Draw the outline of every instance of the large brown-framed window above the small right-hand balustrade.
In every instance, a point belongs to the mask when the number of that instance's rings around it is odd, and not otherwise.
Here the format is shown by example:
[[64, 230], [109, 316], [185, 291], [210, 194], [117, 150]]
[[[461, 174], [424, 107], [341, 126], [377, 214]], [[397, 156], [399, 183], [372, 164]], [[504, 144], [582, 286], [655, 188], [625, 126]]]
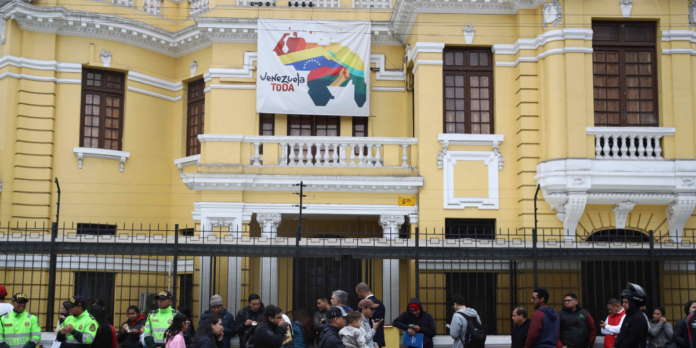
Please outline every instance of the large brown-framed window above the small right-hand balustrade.
[[657, 127], [655, 23], [594, 22], [595, 126]]

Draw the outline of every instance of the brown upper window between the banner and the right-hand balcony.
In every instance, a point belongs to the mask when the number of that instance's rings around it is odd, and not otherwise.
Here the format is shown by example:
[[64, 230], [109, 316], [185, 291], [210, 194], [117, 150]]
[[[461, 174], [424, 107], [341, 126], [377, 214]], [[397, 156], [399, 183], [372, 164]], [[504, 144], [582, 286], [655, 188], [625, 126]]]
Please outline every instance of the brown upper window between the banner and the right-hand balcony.
[[444, 132], [492, 134], [493, 59], [490, 50], [445, 48]]

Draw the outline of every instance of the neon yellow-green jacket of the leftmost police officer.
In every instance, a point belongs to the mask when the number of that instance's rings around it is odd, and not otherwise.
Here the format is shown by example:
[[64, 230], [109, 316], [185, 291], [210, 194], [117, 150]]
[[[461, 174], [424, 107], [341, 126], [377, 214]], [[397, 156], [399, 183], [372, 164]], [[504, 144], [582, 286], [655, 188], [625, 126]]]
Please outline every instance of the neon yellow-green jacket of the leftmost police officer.
[[29, 312], [11, 311], [0, 316], [0, 344], [10, 348], [23, 348], [27, 343], [38, 345], [41, 341], [41, 328], [37, 317]]

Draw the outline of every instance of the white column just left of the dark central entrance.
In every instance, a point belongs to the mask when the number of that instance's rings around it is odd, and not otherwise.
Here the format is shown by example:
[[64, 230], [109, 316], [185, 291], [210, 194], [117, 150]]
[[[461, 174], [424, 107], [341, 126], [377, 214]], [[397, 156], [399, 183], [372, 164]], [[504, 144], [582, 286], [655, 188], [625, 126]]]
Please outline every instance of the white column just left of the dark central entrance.
[[[278, 235], [278, 226], [282, 221], [279, 213], [257, 214], [256, 221], [261, 226], [261, 236], [275, 238]], [[278, 305], [278, 258], [261, 258], [261, 302]]]

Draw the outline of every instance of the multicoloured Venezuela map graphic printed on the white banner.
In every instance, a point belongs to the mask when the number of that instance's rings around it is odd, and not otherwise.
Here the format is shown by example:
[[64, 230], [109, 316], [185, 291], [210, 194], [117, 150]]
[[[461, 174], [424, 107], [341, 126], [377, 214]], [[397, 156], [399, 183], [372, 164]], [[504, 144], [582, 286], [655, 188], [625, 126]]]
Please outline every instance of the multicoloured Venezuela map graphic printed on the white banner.
[[314, 105], [326, 106], [334, 96], [329, 86], [346, 87], [353, 82], [355, 103], [362, 107], [367, 100], [365, 62], [359, 55], [339, 43], [321, 46], [306, 42], [297, 33], [285, 34], [273, 49], [286, 66], [297, 71], [309, 71], [307, 87]]

